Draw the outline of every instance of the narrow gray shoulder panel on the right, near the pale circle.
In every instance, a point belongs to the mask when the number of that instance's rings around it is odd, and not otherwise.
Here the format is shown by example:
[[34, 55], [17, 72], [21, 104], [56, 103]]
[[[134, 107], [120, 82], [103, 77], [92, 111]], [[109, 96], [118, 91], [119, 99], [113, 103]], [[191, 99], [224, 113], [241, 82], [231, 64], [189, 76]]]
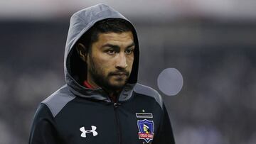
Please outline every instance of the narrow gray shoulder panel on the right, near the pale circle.
[[154, 99], [156, 99], [156, 102], [161, 106], [161, 108], [163, 108], [163, 100], [161, 98], [161, 95], [155, 89], [144, 86], [142, 84], [136, 84], [134, 87], [134, 92], [136, 92], [137, 94], [144, 94], [146, 96], [153, 97]]

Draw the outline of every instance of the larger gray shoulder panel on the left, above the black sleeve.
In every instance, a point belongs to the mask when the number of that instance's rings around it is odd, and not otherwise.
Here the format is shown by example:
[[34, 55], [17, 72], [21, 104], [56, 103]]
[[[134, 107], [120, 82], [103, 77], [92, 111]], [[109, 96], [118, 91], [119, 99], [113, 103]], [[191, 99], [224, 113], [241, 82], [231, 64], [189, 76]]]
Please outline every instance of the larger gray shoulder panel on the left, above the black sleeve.
[[41, 103], [46, 104], [50, 109], [53, 117], [55, 117], [63, 107], [68, 104], [69, 101], [75, 99], [75, 96], [69, 91], [68, 87], [65, 85], [54, 92], [48, 98], [46, 98]]

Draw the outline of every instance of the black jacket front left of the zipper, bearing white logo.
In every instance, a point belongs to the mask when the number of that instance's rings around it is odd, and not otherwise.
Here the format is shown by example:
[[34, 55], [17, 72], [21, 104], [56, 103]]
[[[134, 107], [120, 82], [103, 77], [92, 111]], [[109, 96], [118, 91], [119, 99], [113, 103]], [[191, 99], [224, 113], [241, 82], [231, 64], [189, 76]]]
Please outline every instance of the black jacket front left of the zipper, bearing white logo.
[[114, 116], [113, 106], [75, 104], [63, 109], [56, 123], [60, 138], [68, 143], [117, 143]]

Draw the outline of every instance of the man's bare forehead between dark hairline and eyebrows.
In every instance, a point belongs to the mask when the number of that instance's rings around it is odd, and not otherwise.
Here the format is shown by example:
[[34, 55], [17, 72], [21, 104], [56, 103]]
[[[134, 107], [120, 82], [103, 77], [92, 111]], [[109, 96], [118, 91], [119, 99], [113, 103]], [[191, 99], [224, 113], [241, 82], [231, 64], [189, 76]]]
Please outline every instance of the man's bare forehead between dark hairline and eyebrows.
[[127, 31], [127, 32], [122, 32], [122, 33], [99, 33], [98, 35], [98, 43], [123, 43], [124, 45], [127, 44], [129, 45], [130, 43], [133, 43], [133, 35], [132, 31]]

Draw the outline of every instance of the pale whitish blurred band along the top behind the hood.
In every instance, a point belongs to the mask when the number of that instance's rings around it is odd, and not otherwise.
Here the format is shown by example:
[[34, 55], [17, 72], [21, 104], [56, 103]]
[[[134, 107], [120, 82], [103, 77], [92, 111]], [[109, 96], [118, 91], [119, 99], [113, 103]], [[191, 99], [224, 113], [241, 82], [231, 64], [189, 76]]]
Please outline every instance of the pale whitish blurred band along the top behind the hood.
[[217, 19], [256, 18], [255, 0], [1, 0], [1, 19], [44, 19], [66, 16], [95, 4], [108, 4], [117, 11], [133, 17]]

